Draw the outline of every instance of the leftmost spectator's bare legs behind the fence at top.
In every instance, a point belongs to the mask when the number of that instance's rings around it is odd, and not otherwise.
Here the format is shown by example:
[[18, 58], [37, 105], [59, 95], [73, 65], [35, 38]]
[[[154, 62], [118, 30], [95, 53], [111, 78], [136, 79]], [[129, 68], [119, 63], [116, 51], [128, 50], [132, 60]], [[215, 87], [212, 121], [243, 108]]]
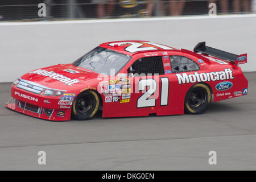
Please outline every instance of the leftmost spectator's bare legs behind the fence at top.
[[[92, 3], [97, 3], [96, 11], [97, 11], [98, 18], [104, 18], [106, 16], [108, 17], [113, 14], [114, 7], [115, 7], [115, 0], [92, 0]], [[105, 5], [106, 5], [106, 10], [105, 10]]]

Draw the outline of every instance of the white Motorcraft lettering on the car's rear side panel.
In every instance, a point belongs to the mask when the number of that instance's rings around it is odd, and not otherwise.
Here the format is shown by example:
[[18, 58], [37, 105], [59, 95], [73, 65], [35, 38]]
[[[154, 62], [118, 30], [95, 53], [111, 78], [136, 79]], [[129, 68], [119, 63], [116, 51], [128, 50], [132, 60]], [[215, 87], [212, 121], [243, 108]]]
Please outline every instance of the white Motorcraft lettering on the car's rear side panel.
[[218, 80], [229, 80], [234, 79], [232, 75], [231, 69], [225, 69], [224, 71], [219, 72], [210, 72], [210, 73], [177, 73], [176, 76], [178, 78], [179, 84], [188, 84], [188, 83], [195, 83], [201, 81], [218, 81]]

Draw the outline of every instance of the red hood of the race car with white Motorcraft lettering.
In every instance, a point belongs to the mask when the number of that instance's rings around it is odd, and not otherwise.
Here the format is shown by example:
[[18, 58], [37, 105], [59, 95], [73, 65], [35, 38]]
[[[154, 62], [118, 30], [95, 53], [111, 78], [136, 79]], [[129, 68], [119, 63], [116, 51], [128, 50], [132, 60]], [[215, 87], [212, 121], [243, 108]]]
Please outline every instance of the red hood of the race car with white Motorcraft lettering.
[[73, 86], [84, 86], [85, 82], [87, 83], [93, 78], [97, 78], [97, 76], [98, 73], [75, 67], [72, 64], [58, 64], [52, 67], [35, 69], [21, 78], [48, 88], [69, 90]]

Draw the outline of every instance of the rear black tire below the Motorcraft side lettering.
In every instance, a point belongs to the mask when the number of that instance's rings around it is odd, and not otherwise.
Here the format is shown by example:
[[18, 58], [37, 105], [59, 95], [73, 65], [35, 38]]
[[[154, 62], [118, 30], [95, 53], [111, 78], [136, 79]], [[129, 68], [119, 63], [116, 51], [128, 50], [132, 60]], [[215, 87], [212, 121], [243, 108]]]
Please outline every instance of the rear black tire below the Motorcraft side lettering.
[[188, 114], [202, 114], [212, 101], [210, 88], [202, 83], [193, 85], [185, 97], [185, 112]]

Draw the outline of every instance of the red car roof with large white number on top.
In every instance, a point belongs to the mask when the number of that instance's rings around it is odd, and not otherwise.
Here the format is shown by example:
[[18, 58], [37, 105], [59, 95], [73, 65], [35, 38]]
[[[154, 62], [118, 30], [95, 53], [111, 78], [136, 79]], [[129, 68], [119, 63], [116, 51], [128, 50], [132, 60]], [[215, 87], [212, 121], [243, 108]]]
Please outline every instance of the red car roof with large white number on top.
[[174, 51], [176, 48], [164, 46], [163, 44], [152, 43], [144, 40], [123, 40], [115, 42], [106, 42], [100, 44], [100, 47], [113, 49], [114, 51], [125, 53], [126, 55], [134, 55], [141, 52], [154, 51]]

